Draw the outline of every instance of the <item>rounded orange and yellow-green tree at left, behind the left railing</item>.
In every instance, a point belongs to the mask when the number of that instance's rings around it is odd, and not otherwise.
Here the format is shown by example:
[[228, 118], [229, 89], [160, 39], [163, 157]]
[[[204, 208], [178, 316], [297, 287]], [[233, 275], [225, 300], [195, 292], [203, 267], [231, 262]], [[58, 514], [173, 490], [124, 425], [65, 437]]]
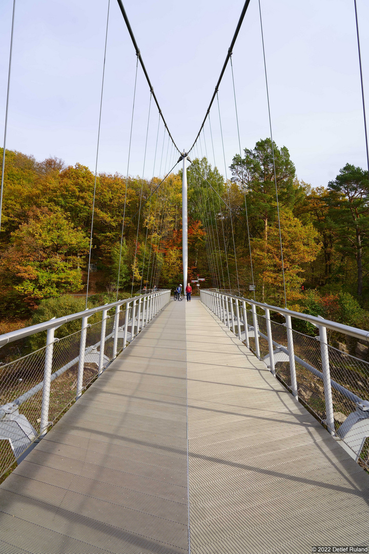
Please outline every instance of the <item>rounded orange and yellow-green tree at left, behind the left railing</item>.
[[89, 239], [59, 212], [33, 209], [29, 220], [12, 233], [0, 263], [2, 285], [11, 286], [29, 307], [43, 298], [80, 290], [77, 252], [86, 253]]

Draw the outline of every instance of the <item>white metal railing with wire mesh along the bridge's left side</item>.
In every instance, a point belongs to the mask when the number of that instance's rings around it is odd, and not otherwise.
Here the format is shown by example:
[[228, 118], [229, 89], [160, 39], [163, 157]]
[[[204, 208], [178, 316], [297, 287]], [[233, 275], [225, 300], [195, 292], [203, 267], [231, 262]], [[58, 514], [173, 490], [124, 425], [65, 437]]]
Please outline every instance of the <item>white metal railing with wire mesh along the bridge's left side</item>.
[[[0, 439], [9, 440], [12, 450], [2, 443], [0, 476], [169, 301], [170, 290], [159, 290], [0, 335], [0, 347], [27, 337], [41, 343], [0, 365]], [[56, 329], [75, 320], [81, 321], [80, 330], [55, 337]]]

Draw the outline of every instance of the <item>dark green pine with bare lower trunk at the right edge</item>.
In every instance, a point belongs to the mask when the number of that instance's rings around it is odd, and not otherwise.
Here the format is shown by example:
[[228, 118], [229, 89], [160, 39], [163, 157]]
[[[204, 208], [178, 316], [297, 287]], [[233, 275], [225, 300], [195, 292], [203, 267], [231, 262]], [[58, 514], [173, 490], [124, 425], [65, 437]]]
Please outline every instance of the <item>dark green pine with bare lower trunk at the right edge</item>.
[[341, 250], [354, 253], [357, 265], [357, 296], [362, 295], [362, 257], [368, 245], [369, 181], [368, 172], [346, 163], [339, 175], [328, 183], [330, 217]]

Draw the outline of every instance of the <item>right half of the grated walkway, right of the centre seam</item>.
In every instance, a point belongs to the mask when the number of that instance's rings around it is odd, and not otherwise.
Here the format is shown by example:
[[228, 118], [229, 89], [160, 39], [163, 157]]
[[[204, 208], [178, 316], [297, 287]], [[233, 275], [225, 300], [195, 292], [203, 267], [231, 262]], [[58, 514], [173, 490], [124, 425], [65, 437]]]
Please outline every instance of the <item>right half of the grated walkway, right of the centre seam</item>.
[[211, 312], [186, 312], [191, 552], [369, 545], [369, 475]]

